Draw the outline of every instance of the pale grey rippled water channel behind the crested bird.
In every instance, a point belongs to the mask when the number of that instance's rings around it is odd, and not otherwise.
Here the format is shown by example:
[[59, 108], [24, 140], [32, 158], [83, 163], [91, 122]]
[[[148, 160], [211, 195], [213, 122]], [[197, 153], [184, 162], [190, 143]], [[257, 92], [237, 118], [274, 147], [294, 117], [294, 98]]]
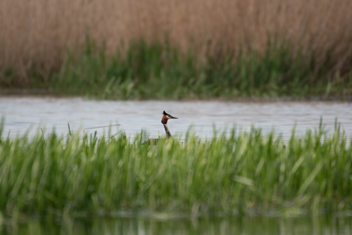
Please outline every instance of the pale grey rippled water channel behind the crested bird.
[[[0, 115], [6, 118], [4, 135], [23, 134], [30, 127], [34, 135], [39, 127], [50, 132], [55, 127], [62, 134], [71, 130], [101, 125], [120, 124], [112, 131], [123, 130], [134, 135], [145, 130], [150, 137], [164, 136], [162, 112], [179, 119], [168, 122], [170, 132], [182, 138], [192, 125], [196, 135], [211, 137], [213, 126], [247, 129], [251, 125], [263, 133], [275, 128], [284, 138], [296, 124], [297, 133], [319, 126], [320, 117], [328, 131], [334, 130], [335, 118], [346, 134], [352, 134], [350, 102], [230, 102], [230, 101], [96, 101], [83, 98], [0, 97]], [[108, 128], [87, 130], [101, 134]]]

